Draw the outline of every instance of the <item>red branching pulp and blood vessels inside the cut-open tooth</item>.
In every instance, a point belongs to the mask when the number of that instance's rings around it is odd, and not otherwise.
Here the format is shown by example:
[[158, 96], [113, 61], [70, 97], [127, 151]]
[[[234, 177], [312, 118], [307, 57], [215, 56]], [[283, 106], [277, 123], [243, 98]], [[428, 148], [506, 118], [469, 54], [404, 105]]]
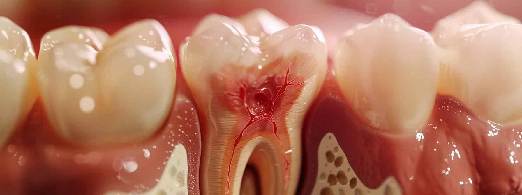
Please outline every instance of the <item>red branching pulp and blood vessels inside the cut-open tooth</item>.
[[[279, 98], [283, 92], [286, 91], [287, 87], [289, 86], [300, 86], [304, 84], [304, 82], [293, 84], [298, 77], [294, 77], [292, 80], [288, 81], [288, 74], [290, 73], [290, 67], [292, 66], [292, 63], [288, 65], [287, 72], [284, 76], [284, 82], [282, 86], [275, 86], [278, 84], [278, 80], [274, 76], [267, 77], [265, 79], [265, 82], [260, 84], [259, 86], [253, 87], [248, 86], [247, 83], [241, 82], [239, 83], [239, 94], [238, 93], [231, 93], [226, 92], [225, 94], [231, 99], [239, 99], [243, 101], [243, 106], [246, 109], [246, 112], [248, 115], [250, 115], [250, 120], [246, 123], [246, 125], [241, 129], [241, 132], [239, 133], [238, 137], [234, 141], [234, 146], [232, 148], [232, 156], [230, 157], [230, 162], [228, 166], [228, 174], [227, 174], [227, 183], [225, 185], [225, 194], [227, 195], [230, 188], [230, 171], [232, 166], [232, 159], [234, 158], [235, 149], [238, 146], [239, 142], [241, 141], [244, 132], [246, 131], [246, 128], [248, 128], [250, 125], [254, 124], [257, 121], [266, 119], [270, 123], [272, 123], [273, 129], [274, 129], [274, 135], [279, 141], [279, 144], [281, 146], [282, 151], [284, 150], [284, 146], [281, 142], [281, 139], [278, 135], [278, 128], [274, 119], [273, 111], [274, 111], [274, 103]], [[276, 92], [276, 93], [274, 93]], [[289, 169], [288, 166], [290, 165], [290, 161], [286, 157], [286, 155], [283, 154], [284, 158], [284, 172], [285, 172], [285, 186], [288, 186], [289, 182]]]

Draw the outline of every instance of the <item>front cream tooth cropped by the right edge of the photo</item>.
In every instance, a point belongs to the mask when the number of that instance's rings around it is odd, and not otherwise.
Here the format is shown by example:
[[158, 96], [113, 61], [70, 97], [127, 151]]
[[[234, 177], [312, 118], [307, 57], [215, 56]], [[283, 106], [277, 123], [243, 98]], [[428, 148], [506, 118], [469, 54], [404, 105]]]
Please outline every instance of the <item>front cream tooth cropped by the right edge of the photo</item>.
[[441, 92], [454, 95], [484, 119], [522, 122], [522, 25], [481, 24], [443, 49]]

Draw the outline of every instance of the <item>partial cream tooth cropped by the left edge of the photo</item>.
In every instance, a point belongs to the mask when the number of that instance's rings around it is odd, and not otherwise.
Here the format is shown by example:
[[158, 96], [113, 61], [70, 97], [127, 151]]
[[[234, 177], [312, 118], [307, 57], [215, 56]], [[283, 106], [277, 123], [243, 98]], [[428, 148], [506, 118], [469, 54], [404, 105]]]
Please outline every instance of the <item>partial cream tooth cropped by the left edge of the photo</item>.
[[0, 148], [26, 119], [38, 95], [37, 68], [27, 32], [0, 17]]

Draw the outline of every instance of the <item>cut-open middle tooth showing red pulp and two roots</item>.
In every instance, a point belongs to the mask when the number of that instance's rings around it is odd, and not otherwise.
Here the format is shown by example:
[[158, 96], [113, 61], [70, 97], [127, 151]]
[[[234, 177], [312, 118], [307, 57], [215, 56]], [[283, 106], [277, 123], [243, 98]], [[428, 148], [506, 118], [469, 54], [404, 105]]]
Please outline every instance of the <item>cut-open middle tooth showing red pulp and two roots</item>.
[[201, 116], [202, 193], [239, 194], [249, 164], [264, 193], [293, 194], [302, 123], [327, 69], [321, 31], [295, 25], [257, 42], [227, 23], [197, 29], [180, 61]]

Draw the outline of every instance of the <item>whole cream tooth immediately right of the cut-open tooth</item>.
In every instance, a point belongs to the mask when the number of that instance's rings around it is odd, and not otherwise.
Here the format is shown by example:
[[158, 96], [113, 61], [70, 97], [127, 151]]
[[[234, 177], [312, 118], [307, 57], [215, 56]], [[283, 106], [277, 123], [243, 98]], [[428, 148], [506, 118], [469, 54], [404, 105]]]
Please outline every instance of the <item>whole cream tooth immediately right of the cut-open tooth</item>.
[[348, 31], [334, 58], [337, 82], [354, 112], [392, 134], [409, 135], [425, 125], [438, 66], [431, 36], [389, 14]]

